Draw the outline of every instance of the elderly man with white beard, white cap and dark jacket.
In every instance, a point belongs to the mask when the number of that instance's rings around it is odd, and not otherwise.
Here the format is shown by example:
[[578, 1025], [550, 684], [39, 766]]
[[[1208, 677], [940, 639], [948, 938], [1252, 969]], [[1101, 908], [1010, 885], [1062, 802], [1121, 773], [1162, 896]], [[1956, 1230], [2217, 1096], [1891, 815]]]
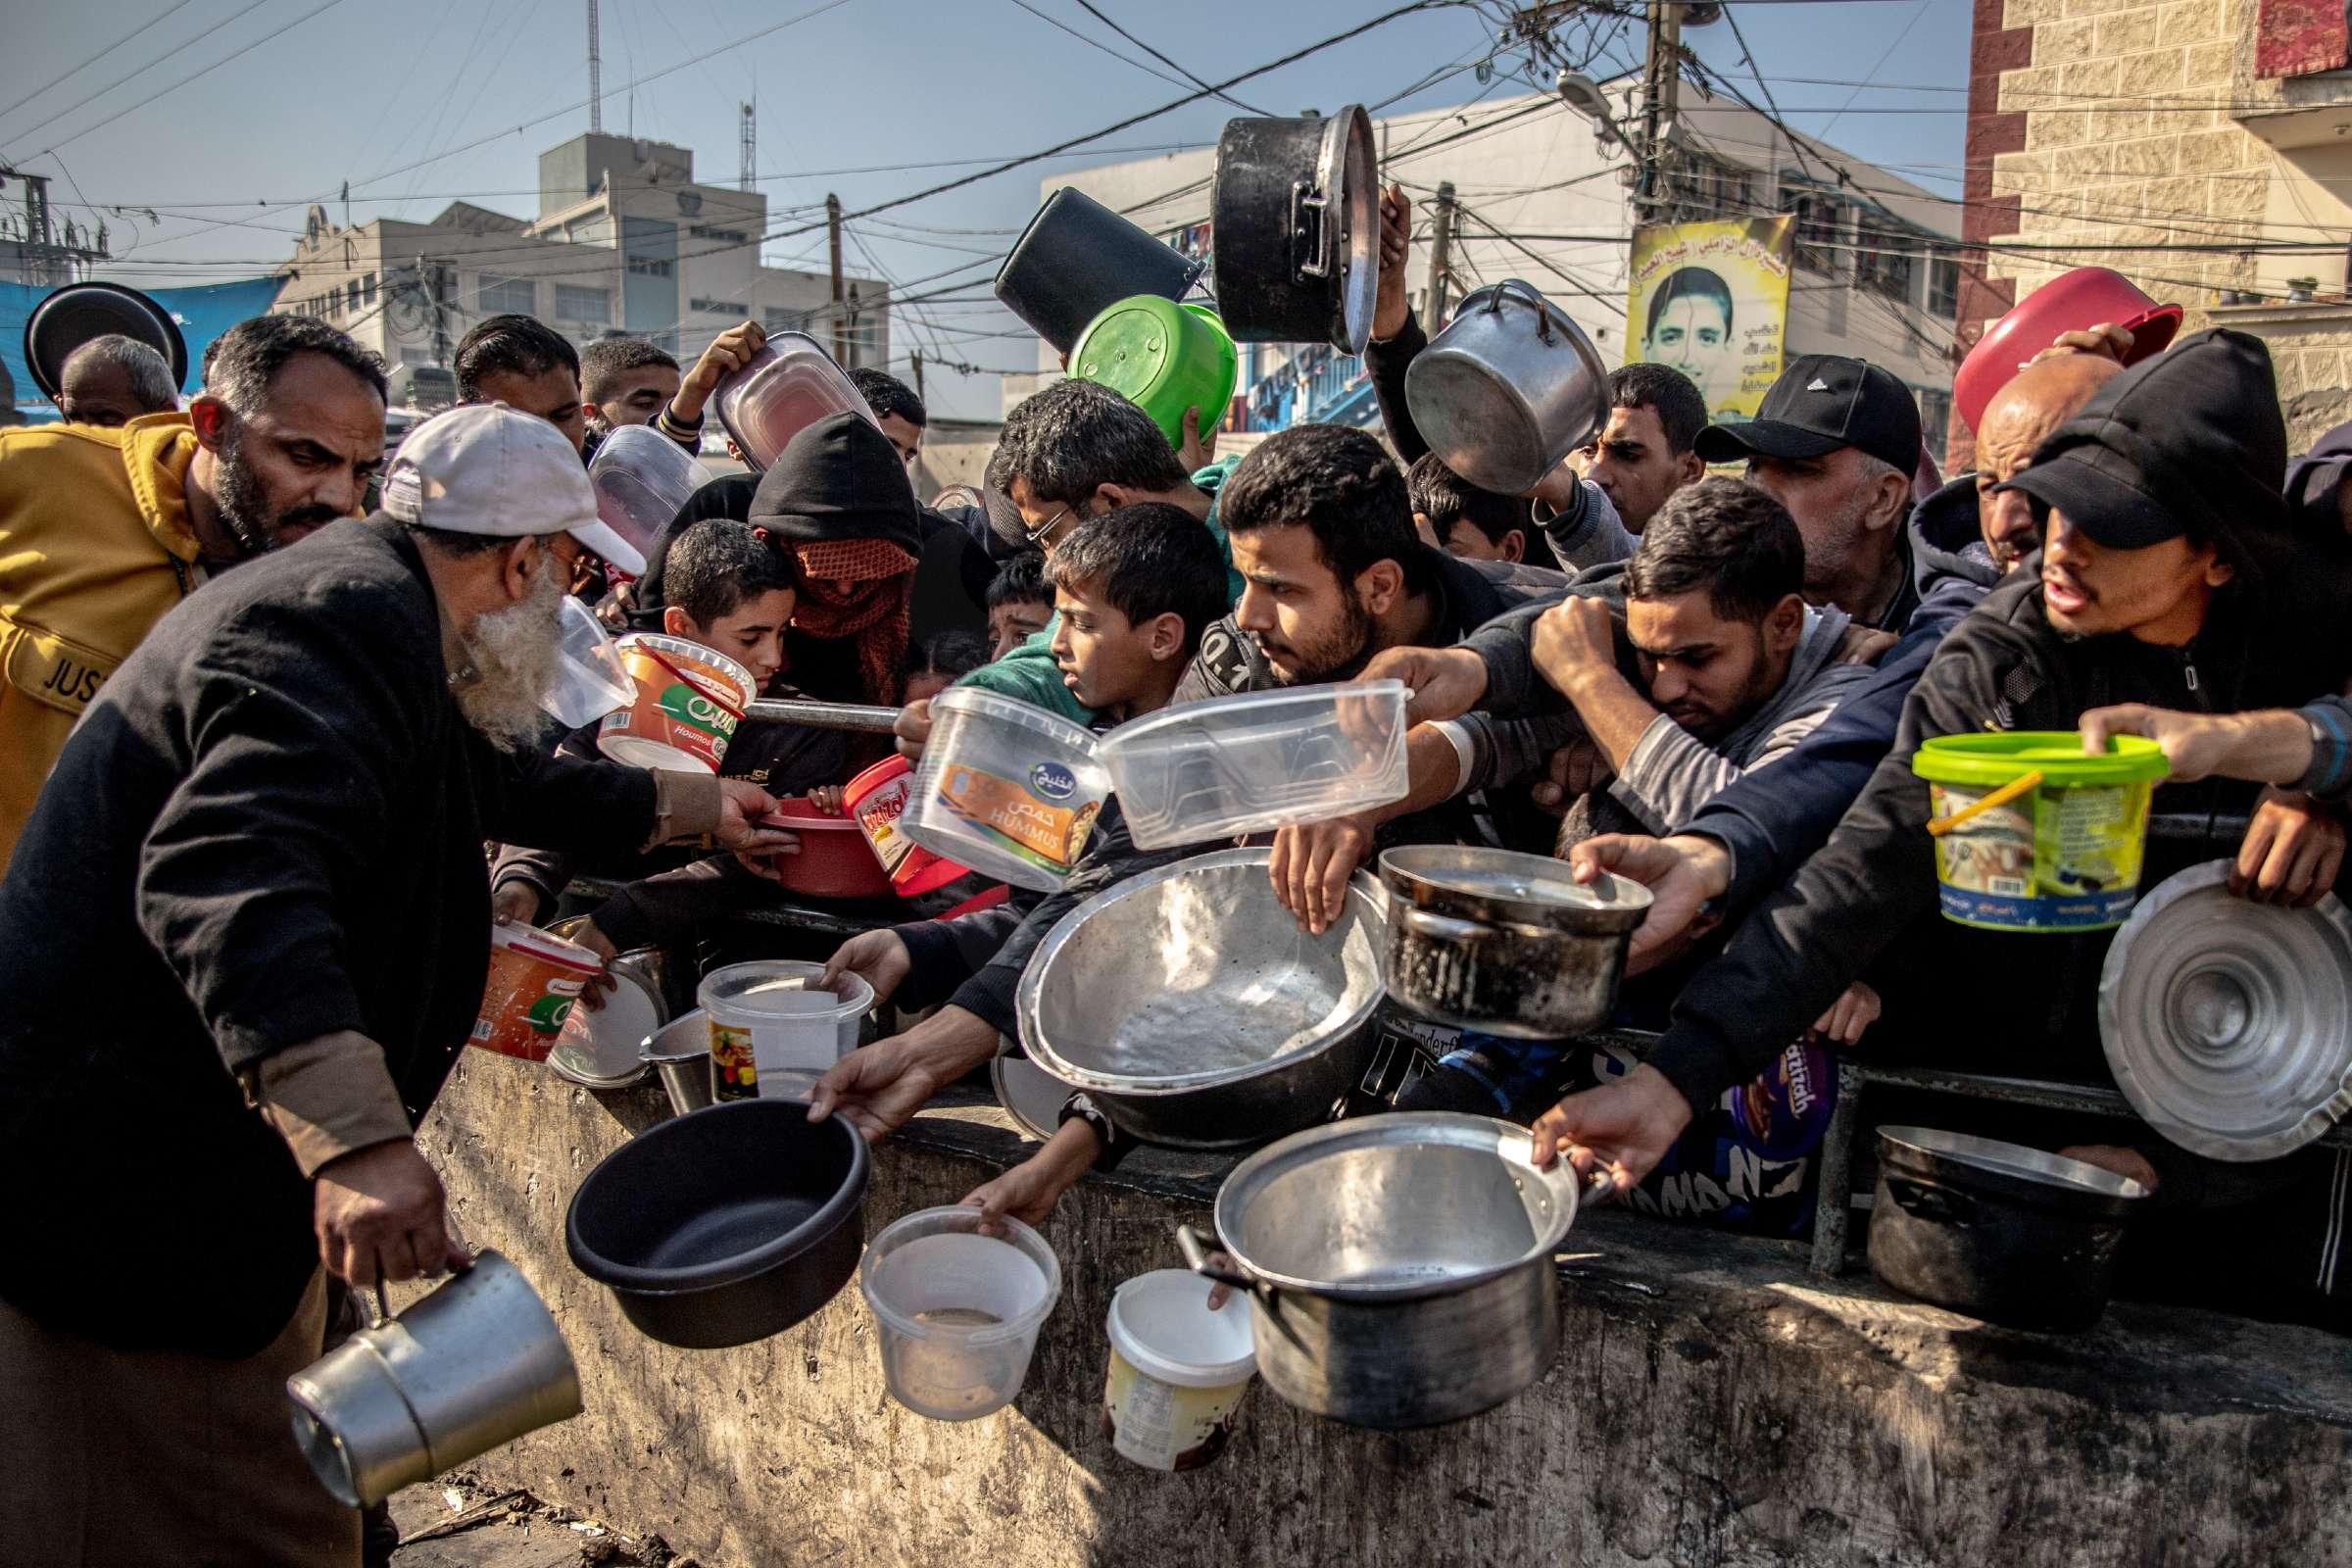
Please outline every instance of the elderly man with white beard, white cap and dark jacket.
[[358, 1563], [282, 1385], [327, 1274], [463, 1262], [414, 1128], [482, 999], [482, 842], [790, 846], [750, 783], [529, 745], [581, 552], [642, 569], [572, 444], [454, 409], [59, 755], [0, 882], [0, 1561]]

